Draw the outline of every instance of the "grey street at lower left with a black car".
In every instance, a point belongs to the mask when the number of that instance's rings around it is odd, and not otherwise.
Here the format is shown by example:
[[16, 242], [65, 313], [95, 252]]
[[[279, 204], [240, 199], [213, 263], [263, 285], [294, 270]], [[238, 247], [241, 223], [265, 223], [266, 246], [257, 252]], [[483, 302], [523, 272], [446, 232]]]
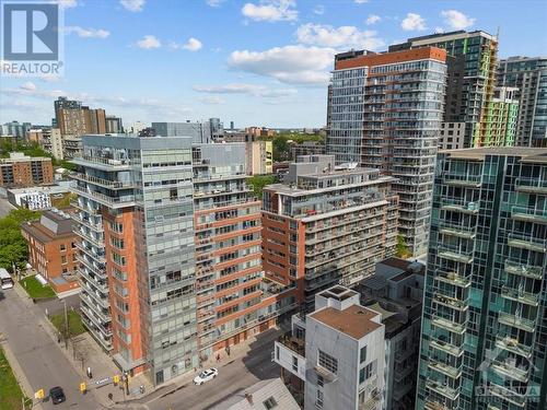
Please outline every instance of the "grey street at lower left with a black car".
[[74, 371], [59, 345], [38, 325], [43, 315], [40, 307], [31, 308], [10, 289], [3, 292], [0, 300], [0, 332], [3, 333], [10, 350], [16, 356], [26, 379], [34, 391], [61, 386], [67, 401], [53, 406], [50, 401], [42, 403], [44, 410], [56, 409], [100, 409], [93, 395], [78, 391], [80, 376]]

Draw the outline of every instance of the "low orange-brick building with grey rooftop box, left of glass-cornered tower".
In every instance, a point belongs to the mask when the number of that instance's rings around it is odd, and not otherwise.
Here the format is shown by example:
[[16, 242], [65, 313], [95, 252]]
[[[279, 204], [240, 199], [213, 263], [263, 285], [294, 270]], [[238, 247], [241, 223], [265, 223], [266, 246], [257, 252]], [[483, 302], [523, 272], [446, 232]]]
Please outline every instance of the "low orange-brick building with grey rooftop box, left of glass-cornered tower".
[[27, 222], [21, 233], [28, 245], [28, 263], [56, 293], [77, 290], [78, 236], [72, 218], [59, 210], [45, 211], [39, 221]]

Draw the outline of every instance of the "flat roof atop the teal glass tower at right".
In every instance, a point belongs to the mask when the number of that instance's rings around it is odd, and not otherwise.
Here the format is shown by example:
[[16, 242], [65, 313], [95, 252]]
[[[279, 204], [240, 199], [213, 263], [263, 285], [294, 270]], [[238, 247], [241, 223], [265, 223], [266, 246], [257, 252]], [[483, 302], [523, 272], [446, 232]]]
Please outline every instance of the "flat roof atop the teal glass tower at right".
[[547, 162], [547, 148], [523, 147], [487, 147], [465, 148], [461, 150], [441, 150], [441, 154], [449, 154], [453, 159], [484, 161], [487, 155], [521, 156], [527, 162]]

